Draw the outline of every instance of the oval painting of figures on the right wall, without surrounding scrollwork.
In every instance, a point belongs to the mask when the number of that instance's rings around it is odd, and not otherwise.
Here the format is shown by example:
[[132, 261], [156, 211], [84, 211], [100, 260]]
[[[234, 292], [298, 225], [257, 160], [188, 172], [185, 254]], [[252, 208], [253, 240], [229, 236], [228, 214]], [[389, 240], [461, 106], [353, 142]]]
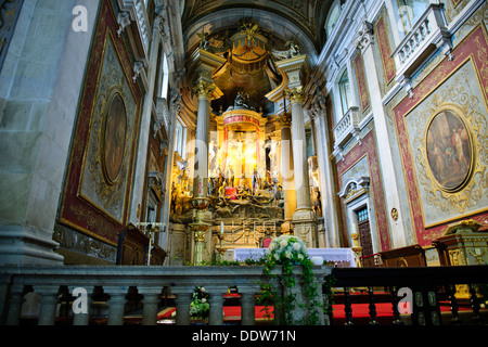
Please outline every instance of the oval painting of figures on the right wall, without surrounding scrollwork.
[[441, 188], [461, 189], [471, 172], [473, 149], [468, 129], [454, 111], [445, 110], [432, 118], [426, 151], [432, 175]]

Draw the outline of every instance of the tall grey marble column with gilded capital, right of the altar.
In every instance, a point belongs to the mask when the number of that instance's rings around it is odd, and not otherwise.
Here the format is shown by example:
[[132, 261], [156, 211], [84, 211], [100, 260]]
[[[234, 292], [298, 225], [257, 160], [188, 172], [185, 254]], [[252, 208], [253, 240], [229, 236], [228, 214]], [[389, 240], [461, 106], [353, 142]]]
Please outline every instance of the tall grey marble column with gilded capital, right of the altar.
[[296, 210], [293, 214], [294, 234], [316, 247], [317, 219], [311, 208], [308, 177], [307, 145], [304, 123], [305, 92], [301, 86], [288, 89], [292, 103], [293, 163], [295, 174]]

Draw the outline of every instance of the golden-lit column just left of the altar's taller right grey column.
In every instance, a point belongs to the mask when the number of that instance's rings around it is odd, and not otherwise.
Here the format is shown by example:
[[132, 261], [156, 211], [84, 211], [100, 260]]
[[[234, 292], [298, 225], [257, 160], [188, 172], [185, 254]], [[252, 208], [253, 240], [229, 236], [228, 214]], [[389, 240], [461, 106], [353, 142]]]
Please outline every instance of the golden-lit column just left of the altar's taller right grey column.
[[294, 183], [294, 165], [292, 149], [292, 116], [282, 114], [278, 121], [281, 125], [281, 177], [283, 183], [284, 197], [284, 220], [281, 226], [283, 232], [288, 233], [292, 230], [291, 221], [293, 213], [296, 209], [295, 183]]

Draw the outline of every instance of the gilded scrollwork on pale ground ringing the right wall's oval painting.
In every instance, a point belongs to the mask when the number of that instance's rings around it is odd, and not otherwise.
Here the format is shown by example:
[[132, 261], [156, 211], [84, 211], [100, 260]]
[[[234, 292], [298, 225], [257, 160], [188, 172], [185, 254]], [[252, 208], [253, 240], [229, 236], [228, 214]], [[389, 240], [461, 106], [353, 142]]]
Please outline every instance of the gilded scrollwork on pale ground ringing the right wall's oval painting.
[[[414, 113], [415, 133], [412, 142], [412, 146], [415, 149], [414, 158], [419, 181], [425, 192], [426, 203], [445, 213], [459, 214], [464, 214], [477, 205], [488, 188], [487, 119], [480, 113], [481, 106], [478, 98], [470, 93], [463, 86], [462, 76], [467, 79], [467, 75], [461, 74], [448, 88], [442, 89], [432, 98], [431, 102]], [[427, 151], [428, 128], [435, 117], [442, 113], [451, 113], [459, 117], [465, 128], [466, 143], [471, 146], [465, 179], [452, 187], [444, 184], [438, 175], [436, 176], [436, 168], [429, 162], [429, 152]], [[425, 117], [425, 114], [431, 114], [431, 117]], [[453, 143], [455, 134], [451, 136], [452, 155], [455, 155], [455, 144]]]

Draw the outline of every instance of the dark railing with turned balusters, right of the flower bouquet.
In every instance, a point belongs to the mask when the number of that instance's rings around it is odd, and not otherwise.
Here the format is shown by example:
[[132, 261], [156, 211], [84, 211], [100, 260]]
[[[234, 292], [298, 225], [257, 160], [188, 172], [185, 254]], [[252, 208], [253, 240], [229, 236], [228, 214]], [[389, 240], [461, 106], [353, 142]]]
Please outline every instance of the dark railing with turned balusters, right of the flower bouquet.
[[[376, 324], [376, 293], [389, 294], [391, 304], [390, 324], [409, 323], [412, 325], [441, 324], [478, 324], [483, 323], [480, 310], [483, 300], [488, 299], [486, 285], [488, 284], [488, 266], [459, 267], [415, 267], [415, 268], [348, 268], [333, 269], [333, 297], [341, 297], [344, 304], [345, 322], [354, 324], [354, 299], [358, 288], [368, 292], [369, 323]], [[339, 288], [339, 290], [338, 290]], [[461, 290], [464, 288], [464, 290]], [[400, 297], [399, 291], [411, 294]], [[399, 312], [399, 301], [408, 301], [411, 314]], [[468, 320], [460, 318], [460, 303], [470, 306]], [[447, 305], [448, 319], [444, 319], [441, 305]], [[332, 312], [332, 319], [334, 312]], [[403, 319], [402, 319], [403, 318]], [[407, 318], [407, 320], [404, 319]], [[486, 322], [485, 322], [486, 323]]]

